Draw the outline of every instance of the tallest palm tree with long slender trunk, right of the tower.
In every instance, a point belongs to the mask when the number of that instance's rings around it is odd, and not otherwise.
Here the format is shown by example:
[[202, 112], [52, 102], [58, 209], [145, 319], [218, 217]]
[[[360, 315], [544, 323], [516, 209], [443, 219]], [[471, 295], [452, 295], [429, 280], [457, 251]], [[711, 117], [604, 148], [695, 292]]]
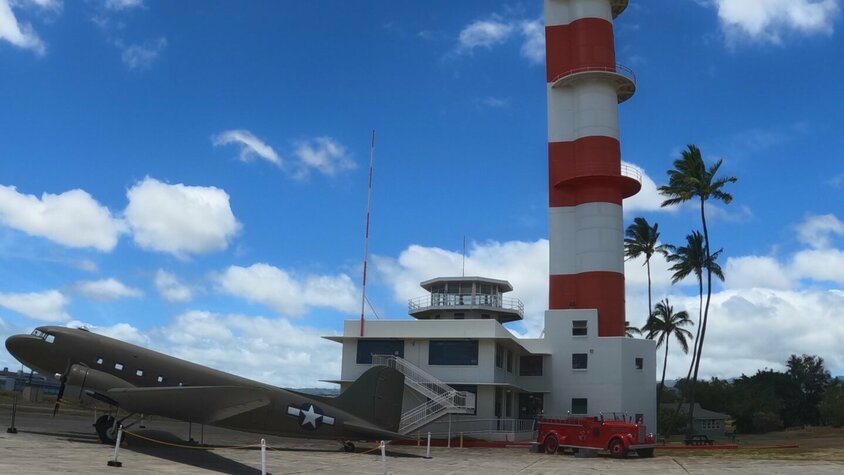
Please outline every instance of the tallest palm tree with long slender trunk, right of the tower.
[[[712, 299], [712, 253], [709, 245], [709, 228], [706, 225], [706, 201], [715, 199], [730, 204], [733, 201], [733, 196], [723, 190], [728, 183], [735, 183], [737, 179], [732, 176], [716, 177], [718, 169], [721, 168], [722, 160], [718, 160], [709, 168], [703, 162], [703, 157], [700, 154], [700, 149], [695, 145], [689, 145], [681, 154], [681, 157], [674, 161], [674, 169], [668, 170], [668, 184], [659, 187], [659, 192], [667, 199], [662, 202], [662, 206], [671, 206], [675, 204], [684, 203], [693, 199], [698, 199], [700, 203], [700, 220], [703, 225], [703, 245], [704, 245], [704, 266], [706, 270], [706, 304], [703, 309], [703, 317], [699, 327], [700, 337], [696, 342], [696, 354], [694, 355], [692, 364], [694, 371], [692, 374], [692, 385], [689, 391], [689, 427], [692, 427], [694, 421], [694, 390], [697, 383], [698, 370], [700, 369], [700, 359], [703, 353], [703, 342], [706, 339], [706, 324], [709, 318], [709, 303]], [[718, 251], [720, 253], [720, 251]], [[722, 277], [723, 279], [723, 274]]]

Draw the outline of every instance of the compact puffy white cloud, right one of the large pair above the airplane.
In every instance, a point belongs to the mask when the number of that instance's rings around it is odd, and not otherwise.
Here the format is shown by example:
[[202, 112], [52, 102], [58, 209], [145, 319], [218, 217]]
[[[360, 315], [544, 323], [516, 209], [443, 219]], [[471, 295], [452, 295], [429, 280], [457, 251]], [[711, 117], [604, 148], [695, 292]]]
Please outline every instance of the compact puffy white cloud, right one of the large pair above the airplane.
[[240, 230], [229, 195], [219, 188], [170, 185], [147, 177], [126, 196], [124, 214], [143, 249], [180, 258], [221, 251]]

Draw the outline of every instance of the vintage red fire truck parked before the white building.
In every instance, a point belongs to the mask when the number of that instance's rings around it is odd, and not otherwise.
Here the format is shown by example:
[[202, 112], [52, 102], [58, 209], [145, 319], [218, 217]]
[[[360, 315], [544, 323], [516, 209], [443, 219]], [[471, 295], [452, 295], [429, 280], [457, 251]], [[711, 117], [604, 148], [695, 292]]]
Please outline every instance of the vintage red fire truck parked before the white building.
[[536, 442], [547, 454], [557, 449], [580, 451], [609, 450], [614, 458], [625, 458], [630, 451], [639, 457], [653, 457], [654, 435], [644, 424], [626, 419], [624, 414], [601, 414], [598, 417], [542, 418], [538, 421]]

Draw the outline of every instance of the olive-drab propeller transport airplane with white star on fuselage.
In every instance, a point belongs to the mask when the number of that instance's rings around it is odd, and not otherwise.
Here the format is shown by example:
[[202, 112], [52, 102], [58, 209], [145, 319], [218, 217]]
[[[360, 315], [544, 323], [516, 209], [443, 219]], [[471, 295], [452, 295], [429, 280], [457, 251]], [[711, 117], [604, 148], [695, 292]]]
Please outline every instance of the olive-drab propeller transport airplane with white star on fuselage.
[[396, 433], [404, 375], [392, 368], [373, 367], [330, 398], [241, 378], [81, 328], [38, 327], [29, 335], [10, 336], [6, 349], [27, 367], [61, 380], [56, 410], [60, 401], [112, 406], [115, 415], [94, 424], [104, 443], [114, 443], [118, 426], [129, 427], [141, 415], [337, 439], [346, 441], [347, 451], [354, 450], [350, 440], [404, 437]]

